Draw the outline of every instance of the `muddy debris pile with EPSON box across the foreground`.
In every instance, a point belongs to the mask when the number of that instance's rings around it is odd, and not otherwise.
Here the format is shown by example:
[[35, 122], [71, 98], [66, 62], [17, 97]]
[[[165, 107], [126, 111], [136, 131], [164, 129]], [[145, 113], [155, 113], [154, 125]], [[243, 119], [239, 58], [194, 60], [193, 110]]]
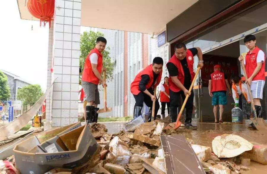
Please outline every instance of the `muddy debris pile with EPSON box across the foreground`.
[[15, 146], [16, 162], [11, 156], [0, 164], [22, 174], [29, 173], [25, 166], [33, 173], [45, 174], [163, 174], [178, 170], [230, 174], [250, 170], [250, 160], [266, 164], [266, 145], [224, 134], [214, 138], [212, 148], [201, 146], [179, 135], [167, 117], [149, 123], [138, 119], [113, 134], [107, 133], [103, 124], [82, 126], [80, 122], [45, 131]]

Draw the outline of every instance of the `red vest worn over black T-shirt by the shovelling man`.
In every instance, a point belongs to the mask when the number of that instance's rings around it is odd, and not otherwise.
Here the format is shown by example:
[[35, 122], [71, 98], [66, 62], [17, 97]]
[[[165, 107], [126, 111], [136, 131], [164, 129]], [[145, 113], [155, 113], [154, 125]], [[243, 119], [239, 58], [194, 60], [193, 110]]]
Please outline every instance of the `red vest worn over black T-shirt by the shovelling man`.
[[[195, 76], [195, 72], [193, 71], [193, 66], [194, 66], [194, 58], [193, 58], [193, 54], [192, 52], [187, 49], [186, 50], [186, 61], [187, 61], [187, 65], [188, 65], [188, 69], [189, 69], [189, 72], [190, 72], [190, 75], [191, 75], [191, 81], [193, 81], [193, 78]], [[182, 67], [182, 64], [180, 62], [179, 59], [177, 59], [177, 57], [175, 56], [175, 54], [171, 57], [171, 59], [169, 60], [168, 63], [173, 63], [176, 67], [177, 67], [177, 70], [178, 70], [178, 80], [184, 85], [184, 82], [185, 82], [185, 74], [184, 74], [184, 70], [183, 70], [183, 67]], [[168, 66], [168, 63], [166, 64], [166, 66]], [[169, 88], [171, 91], [174, 91], [174, 92], [178, 92], [178, 91], [181, 91], [180, 88], [178, 88], [171, 80], [171, 76], [169, 78]]]

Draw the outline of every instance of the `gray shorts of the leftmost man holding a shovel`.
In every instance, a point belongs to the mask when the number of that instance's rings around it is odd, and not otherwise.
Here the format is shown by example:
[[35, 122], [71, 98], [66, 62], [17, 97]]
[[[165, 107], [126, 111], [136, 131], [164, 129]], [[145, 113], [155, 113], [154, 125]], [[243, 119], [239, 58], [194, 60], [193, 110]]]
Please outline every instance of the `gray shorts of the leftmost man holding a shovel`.
[[99, 91], [96, 84], [82, 81], [87, 102], [94, 101], [95, 104], [100, 104]]

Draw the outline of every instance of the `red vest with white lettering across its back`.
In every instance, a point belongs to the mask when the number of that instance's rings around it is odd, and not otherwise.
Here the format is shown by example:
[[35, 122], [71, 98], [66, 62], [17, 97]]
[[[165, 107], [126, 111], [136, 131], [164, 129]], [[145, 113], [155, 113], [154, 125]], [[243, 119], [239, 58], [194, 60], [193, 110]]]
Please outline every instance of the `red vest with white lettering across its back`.
[[226, 83], [223, 72], [220, 72], [219, 70], [214, 71], [210, 77], [212, 80], [211, 92], [226, 91]]

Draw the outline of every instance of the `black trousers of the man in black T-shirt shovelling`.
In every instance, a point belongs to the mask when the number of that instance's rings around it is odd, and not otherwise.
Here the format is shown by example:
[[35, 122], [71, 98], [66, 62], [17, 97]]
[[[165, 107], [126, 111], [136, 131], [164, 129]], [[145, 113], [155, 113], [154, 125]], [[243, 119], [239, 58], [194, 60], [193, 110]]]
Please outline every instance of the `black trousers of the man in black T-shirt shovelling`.
[[[174, 92], [170, 90], [170, 107], [179, 107], [180, 96], [182, 96], [183, 101], [185, 101], [185, 94], [183, 91]], [[192, 90], [191, 95], [189, 96], [185, 104], [185, 109], [193, 109], [193, 101], [194, 101], [194, 92]]]

